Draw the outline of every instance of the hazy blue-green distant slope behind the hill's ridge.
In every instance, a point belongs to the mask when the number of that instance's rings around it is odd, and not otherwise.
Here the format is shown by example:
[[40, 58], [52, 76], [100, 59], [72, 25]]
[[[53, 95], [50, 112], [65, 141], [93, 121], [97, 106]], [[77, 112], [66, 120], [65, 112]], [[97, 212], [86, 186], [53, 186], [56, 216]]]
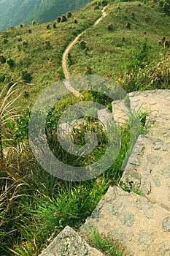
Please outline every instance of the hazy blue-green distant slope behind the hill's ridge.
[[43, 23], [79, 10], [91, 0], [0, 0], [0, 31], [36, 20]]

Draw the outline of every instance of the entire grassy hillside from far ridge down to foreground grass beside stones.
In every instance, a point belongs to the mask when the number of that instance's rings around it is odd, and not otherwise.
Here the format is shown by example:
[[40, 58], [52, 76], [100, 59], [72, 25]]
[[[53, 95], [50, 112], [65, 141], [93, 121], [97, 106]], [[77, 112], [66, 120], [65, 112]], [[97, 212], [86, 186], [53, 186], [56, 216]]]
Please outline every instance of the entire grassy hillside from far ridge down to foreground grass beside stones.
[[[129, 127], [120, 127], [121, 146], [109, 170], [90, 181], [62, 181], [36, 162], [28, 141], [31, 107], [41, 92], [63, 78], [61, 59], [66, 46], [85, 31], [67, 58], [71, 75], [96, 74], [120, 83], [127, 91], [169, 89], [170, 20], [158, 1], [108, 1], [107, 16], [101, 16], [106, 1], [93, 1], [79, 12], [49, 23], [16, 26], [0, 32], [0, 255], [39, 255], [65, 227], [77, 229], [90, 216], [109, 186], [117, 184], [131, 145]], [[13, 116], [7, 93], [12, 84], [22, 95], [15, 102], [19, 118]], [[7, 90], [11, 90], [7, 92]], [[15, 95], [16, 95], [15, 94]], [[82, 92], [61, 99], [47, 116], [47, 143], [68, 165], [84, 166], [98, 161], [107, 146], [107, 134], [95, 118], [85, 118], [85, 127], [72, 130], [77, 146], [85, 144], [85, 133], [96, 132], [98, 145], [88, 156], [75, 157], [63, 150], [56, 138], [58, 119], [64, 110], [81, 100], [104, 102], [100, 94]], [[14, 94], [12, 94], [14, 95]], [[15, 99], [13, 97], [12, 99]], [[10, 108], [7, 108], [10, 106]], [[143, 129], [146, 113], [140, 113]], [[139, 121], [139, 119], [138, 119]], [[137, 132], [142, 132], [139, 129]], [[138, 133], [136, 134], [136, 136]], [[134, 138], [135, 141], [135, 138]], [[136, 191], [133, 184], [125, 189]], [[117, 254], [120, 255], [120, 254]]]

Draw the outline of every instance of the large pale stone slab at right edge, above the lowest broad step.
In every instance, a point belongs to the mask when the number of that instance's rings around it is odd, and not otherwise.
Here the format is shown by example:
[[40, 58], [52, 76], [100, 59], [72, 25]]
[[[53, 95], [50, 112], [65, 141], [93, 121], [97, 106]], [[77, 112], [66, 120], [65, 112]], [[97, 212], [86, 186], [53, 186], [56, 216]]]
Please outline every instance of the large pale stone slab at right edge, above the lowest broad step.
[[133, 181], [152, 203], [170, 210], [170, 90], [130, 94], [134, 109], [148, 113], [146, 132], [134, 146], [121, 181]]

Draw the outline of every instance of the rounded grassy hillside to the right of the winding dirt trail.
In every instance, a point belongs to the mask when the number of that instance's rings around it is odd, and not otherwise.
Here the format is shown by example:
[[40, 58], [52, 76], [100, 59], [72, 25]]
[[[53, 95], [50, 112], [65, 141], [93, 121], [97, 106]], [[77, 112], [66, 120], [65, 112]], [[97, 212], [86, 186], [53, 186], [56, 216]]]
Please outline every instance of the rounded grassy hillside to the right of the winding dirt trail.
[[[129, 88], [123, 79], [130, 69], [149, 69], [169, 51], [169, 41], [166, 47], [159, 42], [163, 37], [170, 39], [169, 16], [139, 1], [110, 3], [106, 12], [107, 17], [98, 26], [82, 34], [80, 41], [86, 42], [86, 49], [81, 50], [77, 42], [70, 51], [69, 71], [72, 75], [90, 72], [120, 80], [129, 91], [139, 89], [132, 85]], [[130, 28], [125, 27], [127, 22]], [[147, 84], [144, 88], [150, 89]]]

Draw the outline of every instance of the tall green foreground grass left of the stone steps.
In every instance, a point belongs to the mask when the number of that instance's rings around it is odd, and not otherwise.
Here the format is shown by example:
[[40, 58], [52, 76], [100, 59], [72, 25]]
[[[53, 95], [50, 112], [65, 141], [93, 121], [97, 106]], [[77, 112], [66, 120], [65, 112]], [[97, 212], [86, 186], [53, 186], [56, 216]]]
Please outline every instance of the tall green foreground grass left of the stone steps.
[[[85, 99], [89, 98], [92, 99], [92, 96], [86, 93]], [[58, 102], [47, 121], [47, 132], [53, 135], [58, 114], [60, 116], [77, 100], [80, 99], [72, 95]], [[49, 145], [54, 152], [57, 151], [62, 162], [89, 165], [104, 153], [107, 142], [104, 140], [104, 132], [101, 132], [98, 121], [95, 124], [91, 123], [93, 120], [87, 121], [90, 121], [88, 126], [95, 127], [94, 131], [98, 135], [98, 146], [90, 157], [75, 159], [62, 149], [58, 152], [58, 141], [51, 143], [50, 137], [47, 137]], [[15, 121], [11, 130], [12, 144], [9, 141], [11, 150], [5, 162], [1, 161], [1, 255], [38, 255], [47, 246], [47, 239], [56, 236], [63, 227], [80, 227], [109, 186], [120, 180], [122, 164], [129, 147], [129, 126], [125, 124], [120, 129], [122, 138], [119, 155], [106, 173], [90, 181], [61, 181], [42, 170], [36, 162], [28, 145], [27, 123], [28, 113]], [[82, 138], [87, 129], [80, 127], [79, 131], [74, 131], [73, 138], [75, 136], [74, 142], [77, 145], [83, 145]]]

